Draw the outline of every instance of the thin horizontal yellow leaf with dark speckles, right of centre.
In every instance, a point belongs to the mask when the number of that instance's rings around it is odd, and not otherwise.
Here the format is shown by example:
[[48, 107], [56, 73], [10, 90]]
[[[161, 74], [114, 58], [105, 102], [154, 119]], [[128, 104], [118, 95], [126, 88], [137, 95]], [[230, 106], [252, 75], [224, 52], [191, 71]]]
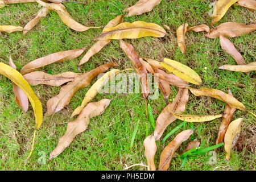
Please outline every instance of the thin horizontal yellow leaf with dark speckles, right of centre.
[[212, 121], [213, 119], [222, 117], [222, 114], [214, 114], [214, 115], [190, 115], [190, 114], [177, 114], [171, 113], [174, 115], [175, 118], [180, 119], [181, 121], [187, 122], [205, 122], [205, 121]]

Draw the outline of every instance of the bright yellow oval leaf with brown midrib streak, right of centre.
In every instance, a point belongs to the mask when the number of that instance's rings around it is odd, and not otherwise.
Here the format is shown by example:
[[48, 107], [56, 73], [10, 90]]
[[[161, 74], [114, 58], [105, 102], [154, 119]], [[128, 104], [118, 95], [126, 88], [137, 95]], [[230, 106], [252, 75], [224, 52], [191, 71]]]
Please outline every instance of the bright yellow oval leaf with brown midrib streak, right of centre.
[[192, 84], [200, 85], [202, 80], [199, 75], [193, 69], [181, 64], [175, 60], [164, 58], [164, 61], [160, 63], [167, 71], [174, 73], [177, 77], [182, 78], [185, 81]]

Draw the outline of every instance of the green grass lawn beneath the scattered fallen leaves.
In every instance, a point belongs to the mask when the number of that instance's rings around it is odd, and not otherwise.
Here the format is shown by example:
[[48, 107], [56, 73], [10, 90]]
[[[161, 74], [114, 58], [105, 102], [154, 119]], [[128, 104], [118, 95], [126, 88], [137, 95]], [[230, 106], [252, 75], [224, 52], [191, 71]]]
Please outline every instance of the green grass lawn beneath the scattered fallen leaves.
[[[98, 0], [85, 1], [81, 3], [64, 3], [74, 19], [86, 26], [104, 26], [110, 19], [122, 14], [122, 10], [133, 5], [136, 0], [114, 1]], [[167, 24], [171, 32], [164, 38], [142, 38], [127, 40], [132, 43], [138, 54], [142, 57], [152, 59], [163, 59], [168, 57], [175, 59], [194, 69], [203, 80], [200, 87], [216, 88], [227, 92], [232, 90], [234, 97], [241, 101], [249, 110], [255, 113], [255, 72], [250, 76], [244, 73], [219, 70], [218, 67], [224, 64], [236, 64], [233, 58], [222, 51], [218, 39], [208, 39], [202, 33], [188, 32], [187, 52], [183, 55], [176, 43], [175, 31], [180, 24], [187, 22], [189, 26], [197, 24], [210, 24], [211, 18], [208, 15], [210, 10], [209, 1], [201, 0], [163, 0], [159, 6], [150, 13], [125, 18], [125, 22], [143, 20], [154, 22], [160, 25]], [[9, 5], [0, 9], [0, 24], [25, 26], [34, 18], [40, 7], [36, 3]], [[223, 22], [255, 23], [256, 14], [242, 7], [231, 7], [228, 13], [221, 19]], [[0, 36], [0, 61], [8, 63], [9, 56], [13, 57], [18, 70], [30, 61], [50, 53], [65, 51], [69, 49], [92, 46], [91, 39], [99, 35], [101, 30], [92, 29], [86, 32], [75, 32], [65, 26], [59, 16], [51, 12], [27, 36], [23, 37], [22, 32], [11, 34], [3, 33]], [[232, 38], [234, 46], [240, 51], [246, 63], [255, 61], [255, 33]], [[83, 54], [84, 55], [84, 54]], [[83, 56], [82, 55], [82, 56]], [[82, 56], [75, 60], [61, 64], [48, 65], [40, 71], [53, 74], [61, 72], [79, 72], [77, 65]], [[100, 53], [93, 56], [88, 63], [82, 65], [81, 72], [89, 71], [98, 65], [114, 61], [118, 63], [119, 69], [131, 68], [132, 64], [127, 56], [119, 48], [118, 41], [112, 41]], [[81, 104], [87, 88], [79, 90], [72, 98], [71, 104], [53, 117], [50, 127], [47, 127], [51, 117], [44, 117], [44, 122], [36, 137], [35, 151], [30, 161], [24, 164], [24, 159], [31, 147], [32, 134], [34, 132], [34, 114], [32, 108], [23, 113], [16, 105], [12, 92], [10, 80], [0, 76], [0, 169], [2, 170], [121, 170], [125, 164], [146, 163], [144, 157], [143, 140], [146, 137], [146, 115], [145, 103], [141, 94], [98, 94], [93, 101], [102, 98], [111, 98], [113, 101], [105, 112], [98, 117], [91, 119], [88, 130], [78, 135], [71, 145], [57, 158], [44, 165], [38, 164], [40, 155], [38, 152], [46, 152], [48, 156], [55, 148], [59, 137], [66, 130], [70, 121], [72, 111]], [[92, 84], [95, 82], [93, 80]], [[90, 84], [90, 85], [92, 85]], [[46, 111], [46, 102], [55, 96], [60, 88], [46, 85], [33, 86], [35, 93], [43, 104], [43, 111]], [[177, 88], [172, 86], [172, 101], [177, 93]], [[152, 106], [154, 118], [156, 119], [166, 105], [162, 96], [158, 100], [151, 100], [148, 103]], [[189, 102], [185, 113], [189, 114], [219, 114], [225, 109], [225, 104], [207, 97], [195, 97], [190, 94]], [[246, 113], [237, 110], [234, 119], [244, 117]], [[133, 146], [130, 147], [135, 125], [139, 122], [137, 134]], [[163, 139], [181, 121], [172, 123], [164, 132]], [[221, 119], [211, 122], [195, 123], [194, 137], [204, 143], [204, 148], [213, 146], [217, 138], [218, 127]], [[191, 125], [185, 125], [184, 129], [191, 129]], [[153, 129], [148, 122], [149, 134]], [[177, 133], [175, 133], [177, 134]], [[158, 151], [155, 156], [155, 163], [158, 166], [159, 155], [164, 146], [174, 137], [171, 135], [164, 144], [159, 140]], [[243, 142], [255, 138], [255, 118], [246, 115], [242, 124]], [[188, 141], [189, 142], [189, 141]], [[184, 142], [177, 150], [181, 152], [188, 142]], [[255, 151], [255, 140], [254, 151]], [[253, 148], [253, 147], [252, 147]], [[212, 156], [208, 153], [197, 158], [189, 158], [184, 164], [183, 159], [174, 158], [171, 161], [170, 170], [255, 170], [255, 153], [250, 147], [237, 147], [232, 151], [230, 162], [225, 160], [224, 148], [217, 151], [217, 163], [209, 164]], [[132, 169], [146, 169], [134, 167]]]

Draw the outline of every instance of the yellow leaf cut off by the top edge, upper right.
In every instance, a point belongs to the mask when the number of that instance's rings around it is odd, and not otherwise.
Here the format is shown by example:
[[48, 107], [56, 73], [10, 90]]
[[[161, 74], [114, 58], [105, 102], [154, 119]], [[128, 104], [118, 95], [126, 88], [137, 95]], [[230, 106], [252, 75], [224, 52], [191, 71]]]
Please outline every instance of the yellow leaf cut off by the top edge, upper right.
[[238, 0], [218, 0], [214, 5], [212, 24], [217, 23]]

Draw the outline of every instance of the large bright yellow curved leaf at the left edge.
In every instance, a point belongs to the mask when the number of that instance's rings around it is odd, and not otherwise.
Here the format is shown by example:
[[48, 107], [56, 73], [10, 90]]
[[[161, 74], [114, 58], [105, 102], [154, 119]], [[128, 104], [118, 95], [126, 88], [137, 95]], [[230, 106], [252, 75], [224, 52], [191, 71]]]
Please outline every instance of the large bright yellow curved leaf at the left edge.
[[33, 90], [31, 89], [28, 82], [23, 78], [23, 76], [18, 71], [4, 63], [0, 63], [0, 73], [3, 76], [9, 78], [11, 81], [13, 81], [14, 84], [18, 85], [19, 88], [21, 88], [24, 91], [24, 93], [26, 93], [28, 100], [30, 100], [30, 103], [34, 109], [36, 129], [39, 129], [43, 121], [42, 104], [33, 92]]

